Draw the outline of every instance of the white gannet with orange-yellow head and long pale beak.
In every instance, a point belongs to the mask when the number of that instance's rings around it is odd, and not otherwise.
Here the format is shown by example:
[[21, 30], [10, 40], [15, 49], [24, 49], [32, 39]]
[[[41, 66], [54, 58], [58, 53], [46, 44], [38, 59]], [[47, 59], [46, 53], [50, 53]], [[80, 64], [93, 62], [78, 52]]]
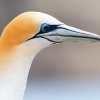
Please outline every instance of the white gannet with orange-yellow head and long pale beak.
[[100, 36], [41, 12], [14, 18], [0, 37], [0, 100], [23, 100], [32, 60], [45, 47], [67, 41], [100, 41]]

